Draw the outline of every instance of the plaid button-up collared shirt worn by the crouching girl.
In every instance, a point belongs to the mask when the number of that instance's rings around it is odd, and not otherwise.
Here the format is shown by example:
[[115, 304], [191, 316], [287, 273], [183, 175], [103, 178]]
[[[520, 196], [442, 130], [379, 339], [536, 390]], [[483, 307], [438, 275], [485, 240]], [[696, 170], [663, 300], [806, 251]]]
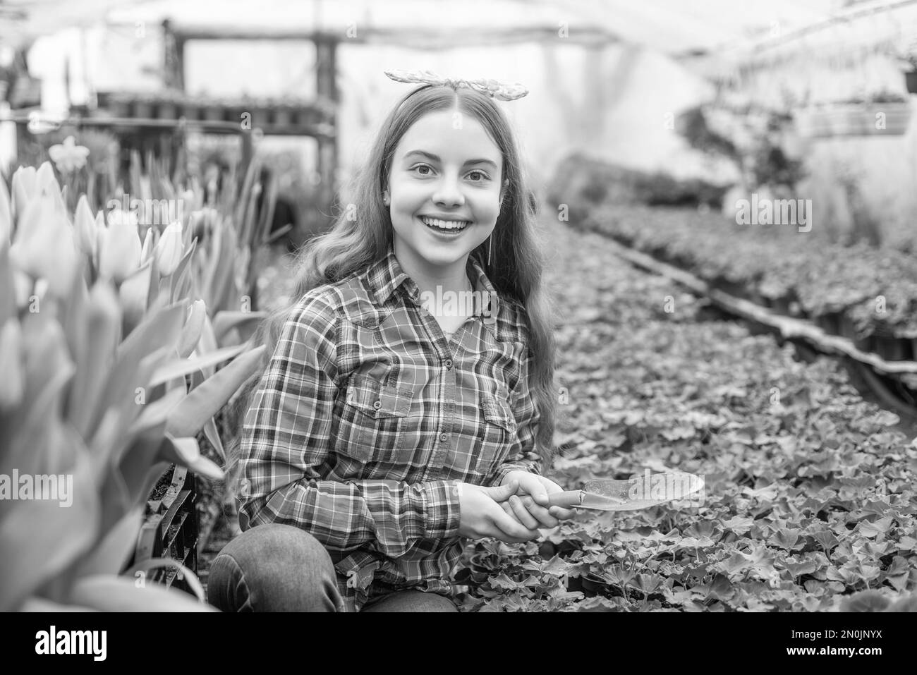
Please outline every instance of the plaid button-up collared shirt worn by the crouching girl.
[[392, 248], [306, 293], [283, 326], [241, 436], [243, 530], [302, 527], [349, 611], [414, 588], [451, 595], [458, 482], [541, 473], [524, 307], [499, 298], [447, 340]]

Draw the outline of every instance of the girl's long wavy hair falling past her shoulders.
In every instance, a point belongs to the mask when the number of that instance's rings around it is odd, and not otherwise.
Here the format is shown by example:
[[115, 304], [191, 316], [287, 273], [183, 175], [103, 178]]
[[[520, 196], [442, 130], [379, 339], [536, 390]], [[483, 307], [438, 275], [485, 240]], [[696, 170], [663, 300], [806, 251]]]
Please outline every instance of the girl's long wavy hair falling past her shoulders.
[[[284, 322], [305, 293], [365, 271], [373, 262], [385, 258], [392, 244], [393, 229], [389, 211], [382, 203], [382, 191], [388, 186], [395, 148], [414, 122], [427, 113], [447, 109], [477, 119], [503, 154], [501, 184], [506, 180], [509, 183], [504, 187], [503, 205], [492, 233], [492, 265], [487, 264], [486, 240], [470, 255], [476, 256], [501, 297], [513, 298], [525, 307], [528, 349], [533, 356], [529, 387], [541, 415], [536, 445], [547, 469], [555, 452], [555, 343], [550, 321], [554, 304], [542, 283], [545, 260], [536, 233], [536, 201], [526, 187], [525, 169], [509, 122], [489, 96], [468, 88], [426, 84], [406, 94], [394, 106], [382, 122], [369, 158], [351, 183], [354, 204], [341, 211], [329, 230], [300, 249], [295, 262], [298, 276], [292, 302], [266, 318], [255, 339], [267, 345], [270, 357]], [[250, 379], [236, 399], [230, 416], [239, 425], [258, 382], [257, 376]], [[238, 431], [235, 429], [233, 442], [227, 448], [230, 471], [238, 462]], [[230, 452], [230, 448], [236, 452]]]

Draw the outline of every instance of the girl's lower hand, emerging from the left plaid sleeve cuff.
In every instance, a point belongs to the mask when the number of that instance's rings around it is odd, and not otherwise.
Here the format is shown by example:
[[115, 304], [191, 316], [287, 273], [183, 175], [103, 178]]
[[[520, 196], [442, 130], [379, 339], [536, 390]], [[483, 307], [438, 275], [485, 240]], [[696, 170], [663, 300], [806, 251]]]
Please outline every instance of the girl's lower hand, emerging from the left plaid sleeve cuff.
[[495, 537], [510, 544], [524, 544], [540, 537], [541, 533], [536, 528], [524, 526], [501, 508], [500, 502], [505, 502], [518, 487], [516, 481], [504, 481], [497, 487], [459, 483], [461, 515], [458, 536], [471, 539]]

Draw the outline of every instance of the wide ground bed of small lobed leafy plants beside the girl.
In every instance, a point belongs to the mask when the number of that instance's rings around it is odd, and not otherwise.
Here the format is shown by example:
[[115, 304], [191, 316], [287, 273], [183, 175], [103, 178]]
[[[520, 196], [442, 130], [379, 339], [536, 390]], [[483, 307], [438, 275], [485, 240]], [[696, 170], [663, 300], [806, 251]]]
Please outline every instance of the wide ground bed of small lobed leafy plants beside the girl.
[[[646, 223], [657, 222], [644, 212]], [[660, 216], [659, 219], [663, 219]], [[554, 225], [564, 489], [645, 469], [702, 505], [579, 511], [525, 545], [470, 541], [460, 609], [832, 611], [912, 603], [917, 447], [835, 360], [705, 320], [704, 301]]]

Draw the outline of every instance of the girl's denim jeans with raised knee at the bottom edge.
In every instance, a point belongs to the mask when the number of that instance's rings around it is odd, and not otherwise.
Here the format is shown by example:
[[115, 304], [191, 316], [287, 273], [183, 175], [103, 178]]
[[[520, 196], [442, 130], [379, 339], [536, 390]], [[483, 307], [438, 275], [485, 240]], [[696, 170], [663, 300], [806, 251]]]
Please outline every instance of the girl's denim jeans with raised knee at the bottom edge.
[[[210, 565], [207, 600], [224, 612], [346, 612], [324, 546], [299, 527], [266, 524], [235, 537]], [[392, 592], [363, 612], [458, 612], [436, 593]]]

